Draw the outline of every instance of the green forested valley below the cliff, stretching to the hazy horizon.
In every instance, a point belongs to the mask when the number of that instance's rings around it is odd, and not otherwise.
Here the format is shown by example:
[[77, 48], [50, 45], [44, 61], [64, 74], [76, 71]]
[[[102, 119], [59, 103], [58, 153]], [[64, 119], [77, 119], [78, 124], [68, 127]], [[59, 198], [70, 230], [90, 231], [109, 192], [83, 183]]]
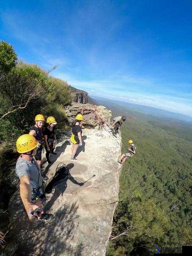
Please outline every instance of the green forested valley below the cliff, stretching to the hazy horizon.
[[181, 246], [192, 245], [192, 125], [133, 112], [109, 101], [99, 104], [112, 110], [113, 116], [127, 118], [121, 127], [122, 152], [130, 139], [136, 146], [136, 155], [126, 160], [121, 171], [107, 255], [148, 256], [155, 246], [160, 252], [181, 253]]

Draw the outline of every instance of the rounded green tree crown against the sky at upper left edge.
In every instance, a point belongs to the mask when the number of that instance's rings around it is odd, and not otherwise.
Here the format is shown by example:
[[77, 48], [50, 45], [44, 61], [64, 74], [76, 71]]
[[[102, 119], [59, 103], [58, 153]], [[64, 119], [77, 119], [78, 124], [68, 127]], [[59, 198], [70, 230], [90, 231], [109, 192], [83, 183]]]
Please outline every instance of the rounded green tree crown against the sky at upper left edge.
[[17, 53], [6, 41], [0, 41], [0, 73], [10, 71], [17, 64]]

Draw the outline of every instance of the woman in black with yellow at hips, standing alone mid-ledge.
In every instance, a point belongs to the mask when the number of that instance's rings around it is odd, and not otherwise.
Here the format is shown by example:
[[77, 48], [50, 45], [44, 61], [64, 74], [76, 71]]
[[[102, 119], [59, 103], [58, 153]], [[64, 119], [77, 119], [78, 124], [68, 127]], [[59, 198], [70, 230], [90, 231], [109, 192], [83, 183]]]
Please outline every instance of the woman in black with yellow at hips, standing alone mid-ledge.
[[78, 146], [82, 146], [82, 121], [83, 121], [83, 115], [78, 114], [73, 121], [72, 125], [72, 135], [71, 135], [71, 142], [73, 143], [72, 146], [72, 153], [71, 153], [71, 160], [76, 161], [77, 159], [75, 158], [75, 153], [78, 149]]

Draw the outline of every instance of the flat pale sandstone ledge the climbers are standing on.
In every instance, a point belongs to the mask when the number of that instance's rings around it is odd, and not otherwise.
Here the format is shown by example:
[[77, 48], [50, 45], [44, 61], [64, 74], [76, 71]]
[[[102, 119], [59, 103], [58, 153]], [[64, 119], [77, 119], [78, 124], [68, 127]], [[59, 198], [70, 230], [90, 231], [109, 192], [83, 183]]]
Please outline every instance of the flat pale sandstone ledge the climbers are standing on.
[[107, 126], [102, 133], [97, 129], [83, 130], [77, 162], [70, 160], [71, 145], [66, 140], [57, 145], [58, 155], [51, 155], [53, 165], [45, 165], [48, 182], [58, 164], [70, 169], [70, 175], [47, 194], [45, 210], [54, 214], [50, 223], [32, 225], [18, 191], [13, 195], [10, 233], [23, 255], [105, 255], [116, 207], [113, 202], [118, 200], [121, 135], [113, 137]]

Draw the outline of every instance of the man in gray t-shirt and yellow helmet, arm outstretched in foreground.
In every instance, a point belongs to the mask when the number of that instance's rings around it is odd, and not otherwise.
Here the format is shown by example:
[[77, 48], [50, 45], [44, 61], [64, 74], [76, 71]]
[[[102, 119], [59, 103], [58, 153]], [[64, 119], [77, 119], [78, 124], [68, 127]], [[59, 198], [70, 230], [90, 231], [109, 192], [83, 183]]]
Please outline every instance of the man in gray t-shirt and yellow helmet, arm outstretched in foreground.
[[39, 165], [33, 159], [38, 144], [30, 134], [24, 134], [17, 139], [17, 151], [21, 155], [17, 159], [15, 170], [20, 178], [20, 196], [28, 218], [33, 221], [49, 221], [53, 215], [43, 213], [41, 209], [46, 199], [45, 190]]

